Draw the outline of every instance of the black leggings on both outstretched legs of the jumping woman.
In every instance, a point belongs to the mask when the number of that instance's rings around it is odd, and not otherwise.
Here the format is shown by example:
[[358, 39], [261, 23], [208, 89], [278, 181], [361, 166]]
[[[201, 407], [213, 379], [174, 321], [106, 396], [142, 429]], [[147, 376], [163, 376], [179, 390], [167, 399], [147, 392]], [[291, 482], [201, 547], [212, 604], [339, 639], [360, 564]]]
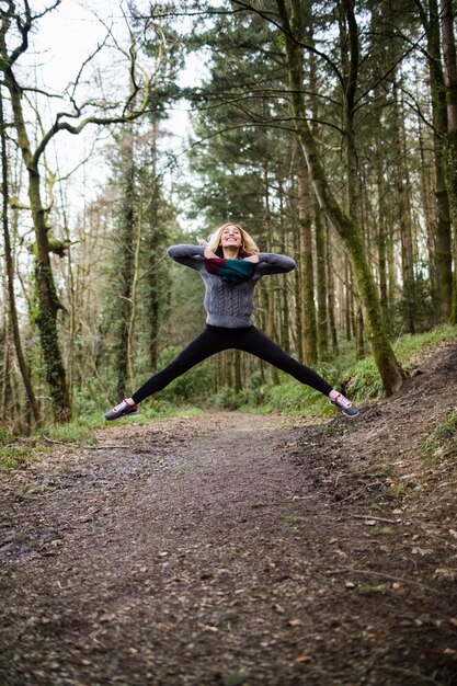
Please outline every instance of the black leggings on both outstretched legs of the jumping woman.
[[325, 396], [332, 390], [332, 386], [324, 381], [319, 374], [287, 355], [279, 345], [271, 341], [255, 327], [227, 329], [207, 324], [206, 329], [168, 367], [151, 376], [146, 384], [133, 393], [132, 398], [135, 402], [140, 402], [148, 396], [165, 388], [173, 379], [199, 362], [210, 357], [210, 355], [233, 347], [256, 355], [278, 369], [287, 371], [301, 384], [307, 384]]

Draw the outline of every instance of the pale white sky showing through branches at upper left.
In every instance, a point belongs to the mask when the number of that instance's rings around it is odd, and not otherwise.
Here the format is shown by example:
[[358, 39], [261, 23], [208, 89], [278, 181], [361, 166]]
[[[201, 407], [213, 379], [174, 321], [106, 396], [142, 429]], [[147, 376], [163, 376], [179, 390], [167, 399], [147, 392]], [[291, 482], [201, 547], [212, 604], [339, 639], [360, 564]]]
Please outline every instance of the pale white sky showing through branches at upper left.
[[[141, 1], [137, 0], [137, 7], [141, 8]], [[52, 0], [32, 2], [33, 11], [42, 7], [48, 7]], [[147, 3], [145, 3], [145, 7]], [[106, 45], [96, 55], [96, 58], [88, 65], [83, 71], [82, 81], [87, 81], [87, 92], [92, 92], [94, 85], [98, 94], [105, 94], [108, 100], [118, 92], [126, 93], [128, 88], [128, 66], [122, 58], [118, 49], [113, 45], [118, 41], [121, 46], [128, 45], [128, 32], [122, 14], [125, 2], [118, 0], [62, 0], [61, 4], [39, 20], [36, 31], [31, 38], [31, 45], [18, 65], [23, 79], [30, 83], [31, 76], [38, 75], [35, 85], [46, 92], [61, 93], [71, 89], [71, 83], [77, 78], [81, 65], [87, 60], [104, 39], [108, 30], [112, 36]], [[181, 77], [182, 83], [195, 80], [195, 68], [191, 62]], [[83, 101], [83, 92], [81, 100]], [[111, 92], [108, 92], [108, 89]], [[56, 112], [68, 110], [62, 106], [59, 99], [41, 99], [38, 108], [45, 123], [45, 127], [53, 122]], [[168, 146], [174, 152], [179, 152], [186, 139], [188, 130], [188, 116], [183, 107], [176, 107], [171, 113], [168, 128], [172, 136], [167, 138]], [[94, 136], [100, 140], [94, 146]], [[71, 205], [82, 206], [82, 184], [85, 201], [93, 199], [101, 185], [107, 180], [110, 170], [106, 167], [103, 151], [112, 140], [108, 129], [88, 126], [83, 134], [72, 136], [67, 132], [60, 132], [54, 137], [48, 150], [48, 158], [59, 160], [58, 172], [67, 175], [78, 168], [80, 162], [91, 156], [91, 162], [73, 172], [68, 193]], [[82, 180], [84, 174], [84, 181]]]

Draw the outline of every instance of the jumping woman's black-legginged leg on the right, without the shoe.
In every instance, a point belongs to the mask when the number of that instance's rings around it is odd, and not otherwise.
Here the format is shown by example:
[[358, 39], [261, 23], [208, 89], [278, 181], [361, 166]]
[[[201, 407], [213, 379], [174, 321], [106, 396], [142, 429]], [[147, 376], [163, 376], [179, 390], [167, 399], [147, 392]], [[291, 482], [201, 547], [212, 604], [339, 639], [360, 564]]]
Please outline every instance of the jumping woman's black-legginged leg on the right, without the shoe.
[[300, 364], [297, 359], [290, 357], [290, 355], [287, 355], [277, 343], [274, 343], [255, 327], [243, 329], [243, 334], [240, 335], [237, 347], [252, 355], [256, 355], [256, 357], [264, 359], [278, 369], [290, 374], [290, 376], [295, 377], [301, 384], [316, 388], [316, 390], [319, 390], [324, 396], [329, 396], [333, 390], [333, 387], [319, 376], [317, 371]]

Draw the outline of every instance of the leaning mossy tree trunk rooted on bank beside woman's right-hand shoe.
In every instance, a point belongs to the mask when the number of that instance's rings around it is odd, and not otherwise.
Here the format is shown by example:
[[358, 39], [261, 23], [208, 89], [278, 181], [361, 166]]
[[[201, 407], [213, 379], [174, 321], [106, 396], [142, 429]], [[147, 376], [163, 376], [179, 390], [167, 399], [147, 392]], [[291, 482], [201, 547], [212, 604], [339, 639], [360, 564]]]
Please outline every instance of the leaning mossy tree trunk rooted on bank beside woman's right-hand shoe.
[[294, 39], [294, 25], [296, 25], [297, 14], [299, 15], [300, 12], [300, 3], [299, 0], [293, 0], [293, 11], [289, 15], [285, 0], [276, 0], [276, 2], [285, 35], [296, 133], [307, 160], [311, 184], [319, 205], [347, 250], [357, 293], [365, 308], [369, 324], [370, 342], [376, 365], [386, 395], [391, 395], [401, 386], [404, 373], [397, 362], [387, 335], [378, 293], [365, 254], [361, 228], [356, 218], [349, 217], [341, 209], [330, 188], [318, 155], [315, 137], [306, 117], [301, 82], [302, 54]]

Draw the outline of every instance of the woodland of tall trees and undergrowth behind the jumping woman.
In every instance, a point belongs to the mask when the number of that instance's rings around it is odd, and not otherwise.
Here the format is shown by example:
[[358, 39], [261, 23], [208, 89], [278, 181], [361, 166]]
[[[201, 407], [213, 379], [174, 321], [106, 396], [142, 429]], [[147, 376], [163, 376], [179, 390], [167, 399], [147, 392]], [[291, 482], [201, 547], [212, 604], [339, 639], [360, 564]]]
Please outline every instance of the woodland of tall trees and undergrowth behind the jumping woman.
[[[0, 1], [4, 432], [100, 415], [171, 361], [203, 284], [165, 249], [226, 221], [298, 265], [261, 282], [259, 328], [354, 393], [351, 365], [390, 396], [400, 339], [455, 335], [453, 1], [111, 3], [58, 90], [66, 5]], [[284, 382], [227, 352], [156, 407], [261, 405]]]

